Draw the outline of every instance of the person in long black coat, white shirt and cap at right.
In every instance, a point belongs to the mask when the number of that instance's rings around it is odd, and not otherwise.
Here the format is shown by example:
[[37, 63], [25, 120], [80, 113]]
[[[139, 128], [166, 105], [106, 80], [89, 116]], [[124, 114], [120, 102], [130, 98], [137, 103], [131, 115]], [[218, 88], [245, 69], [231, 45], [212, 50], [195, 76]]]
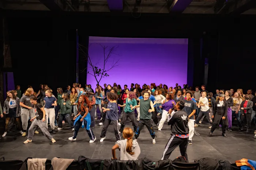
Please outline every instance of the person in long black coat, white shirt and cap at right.
[[211, 131], [209, 136], [212, 135], [216, 127], [222, 125], [222, 136], [227, 138], [226, 126], [229, 125], [227, 120], [227, 108], [228, 104], [224, 101], [225, 95], [220, 94], [218, 100], [214, 103], [214, 110], [212, 111], [212, 118], [214, 118], [213, 124], [211, 126]]

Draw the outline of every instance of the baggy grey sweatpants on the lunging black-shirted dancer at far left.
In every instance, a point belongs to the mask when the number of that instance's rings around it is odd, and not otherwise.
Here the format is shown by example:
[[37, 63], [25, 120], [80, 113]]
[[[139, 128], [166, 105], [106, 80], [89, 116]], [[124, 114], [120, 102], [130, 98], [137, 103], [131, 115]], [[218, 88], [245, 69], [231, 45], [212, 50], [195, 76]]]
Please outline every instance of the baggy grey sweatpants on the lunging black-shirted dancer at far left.
[[[46, 117], [46, 120], [47, 119], [48, 118]], [[53, 137], [50, 135], [50, 133], [48, 131], [46, 120], [43, 122], [42, 120], [35, 119], [29, 128], [29, 135], [27, 136], [27, 139], [32, 140], [34, 133], [35, 133], [35, 129], [37, 127], [40, 127], [42, 133], [46, 136], [46, 138], [49, 140], [52, 140]]]

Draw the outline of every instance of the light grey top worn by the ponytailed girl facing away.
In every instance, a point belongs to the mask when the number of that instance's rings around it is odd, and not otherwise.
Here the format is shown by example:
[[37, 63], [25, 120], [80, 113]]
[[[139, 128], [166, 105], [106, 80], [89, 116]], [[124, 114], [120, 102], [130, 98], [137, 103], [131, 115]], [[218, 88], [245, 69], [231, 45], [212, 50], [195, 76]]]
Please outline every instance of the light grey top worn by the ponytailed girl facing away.
[[138, 142], [132, 141], [132, 152], [134, 152], [134, 155], [131, 155], [126, 151], [126, 143], [127, 143], [127, 139], [116, 142], [116, 144], [119, 145], [120, 160], [121, 161], [138, 160], [138, 157], [140, 155], [140, 147]]

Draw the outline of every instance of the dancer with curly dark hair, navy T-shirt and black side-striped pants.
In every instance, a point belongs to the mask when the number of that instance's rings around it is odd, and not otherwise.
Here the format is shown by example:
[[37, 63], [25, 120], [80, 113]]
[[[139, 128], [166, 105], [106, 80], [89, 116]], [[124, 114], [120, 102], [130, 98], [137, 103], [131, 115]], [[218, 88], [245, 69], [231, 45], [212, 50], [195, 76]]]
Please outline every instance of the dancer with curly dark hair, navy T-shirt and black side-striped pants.
[[114, 133], [116, 135], [116, 140], [120, 141], [120, 135], [118, 132], [118, 112], [117, 112], [117, 99], [118, 96], [116, 93], [108, 92], [107, 99], [109, 100], [108, 108], [102, 107], [103, 112], [107, 112], [106, 119], [103, 125], [103, 129], [101, 131], [101, 140], [99, 142], [103, 142], [106, 138], [106, 133], [109, 127], [109, 124], [112, 122], [114, 127]]

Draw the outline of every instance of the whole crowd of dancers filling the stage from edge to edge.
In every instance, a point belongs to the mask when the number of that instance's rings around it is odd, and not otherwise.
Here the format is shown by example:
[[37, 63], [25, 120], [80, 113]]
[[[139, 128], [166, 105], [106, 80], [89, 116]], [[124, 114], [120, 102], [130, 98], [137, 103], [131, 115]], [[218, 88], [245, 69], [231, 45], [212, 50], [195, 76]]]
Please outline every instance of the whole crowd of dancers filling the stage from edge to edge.
[[[192, 137], [197, 134], [195, 127], [199, 126], [204, 117], [210, 124], [209, 136], [212, 136], [218, 126], [222, 130], [222, 136], [227, 137], [226, 127], [232, 132], [234, 120], [237, 122], [238, 131], [242, 131], [244, 127], [246, 133], [250, 133], [251, 124], [255, 124], [256, 97], [252, 90], [248, 90], [247, 94], [243, 94], [242, 89], [237, 89], [236, 92], [233, 89], [216, 90], [213, 95], [204, 85], [201, 86], [202, 90], [195, 87], [195, 91], [188, 84], [181, 88], [177, 83], [174, 88], [168, 88], [165, 84], [156, 86], [155, 83], [144, 84], [142, 88], [139, 84], [132, 83], [131, 88], [124, 85], [124, 89], [116, 83], [113, 86], [96, 86], [94, 92], [90, 84], [83, 88], [81, 84], [73, 83], [72, 88], [67, 86], [64, 92], [62, 88], [57, 88], [56, 96], [46, 84], [41, 84], [37, 93], [31, 86], [22, 93], [20, 86], [17, 86], [16, 90], [7, 92], [3, 110], [0, 107], [1, 118], [5, 116], [2, 137], [12, 133], [12, 126], [15, 124], [22, 137], [27, 135], [25, 144], [32, 142], [33, 135], [39, 133], [38, 127], [46, 138], [55, 143], [50, 132], [55, 134], [56, 128], [57, 131], [63, 130], [63, 123], [67, 122], [74, 131], [74, 135], [68, 138], [70, 141], [76, 140], [82, 127], [89, 135], [89, 142], [93, 143], [96, 140], [93, 133], [95, 119], [100, 119], [99, 126], [103, 125], [103, 128], [99, 141], [104, 141], [109, 124], [112, 123], [117, 140], [112, 148], [113, 158], [116, 158], [115, 150], [123, 148], [123, 160], [132, 160], [137, 159], [140, 154], [137, 140], [143, 127], [147, 127], [153, 139], [152, 143], [155, 144], [157, 136], [152, 122], [161, 131], [167, 120], [167, 124], [171, 126], [171, 137], [162, 159], [169, 158], [172, 151], [180, 146], [181, 155], [188, 160], [187, 145], [192, 144]], [[97, 109], [100, 115], [97, 114]], [[158, 121], [157, 116], [160, 115], [161, 120]], [[125, 128], [128, 118], [132, 122], [133, 130]], [[31, 125], [27, 130], [29, 122]], [[124, 140], [121, 140], [120, 133], [123, 133]], [[254, 133], [256, 138], [256, 129]]]

